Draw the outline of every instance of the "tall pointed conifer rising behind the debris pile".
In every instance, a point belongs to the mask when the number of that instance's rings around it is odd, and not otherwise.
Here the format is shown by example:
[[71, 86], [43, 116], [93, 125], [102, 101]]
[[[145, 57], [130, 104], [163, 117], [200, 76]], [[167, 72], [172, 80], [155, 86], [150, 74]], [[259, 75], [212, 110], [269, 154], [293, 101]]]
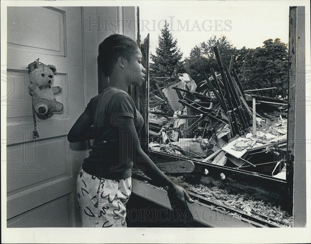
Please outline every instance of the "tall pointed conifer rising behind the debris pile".
[[166, 20], [161, 34], [158, 36], [158, 44], [156, 55], [150, 55], [151, 61], [153, 62], [150, 64], [152, 70], [151, 79], [155, 77], [170, 77], [177, 62], [183, 56], [183, 53], [177, 47], [177, 39], [173, 40], [173, 36], [169, 31], [169, 24]]

